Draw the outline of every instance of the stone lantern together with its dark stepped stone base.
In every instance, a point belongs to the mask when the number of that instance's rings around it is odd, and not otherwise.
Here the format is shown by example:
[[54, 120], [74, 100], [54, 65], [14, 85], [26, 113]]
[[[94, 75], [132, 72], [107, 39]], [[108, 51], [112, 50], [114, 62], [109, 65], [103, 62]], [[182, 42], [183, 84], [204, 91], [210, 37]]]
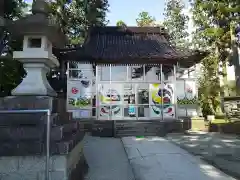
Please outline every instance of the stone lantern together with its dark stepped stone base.
[[[65, 35], [49, 18], [48, 4], [43, 0], [34, 1], [32, 15], [6, 24], [11, 36], [23, 40], [22, 50], [15, 51], [13, 57], [23, 63], [27, 76], [12, 91], [14, 96], [0, 98], [1, 178], [83, 179], [87, 169], [82, 151], [84, 133], [64, 109], [66, 99], [54, 97], [56, 92], [46, 78], [47, 72], [59, 65], [52, 47], [62, 48]], [[19, 168], [12, 171], [13, 167]]]

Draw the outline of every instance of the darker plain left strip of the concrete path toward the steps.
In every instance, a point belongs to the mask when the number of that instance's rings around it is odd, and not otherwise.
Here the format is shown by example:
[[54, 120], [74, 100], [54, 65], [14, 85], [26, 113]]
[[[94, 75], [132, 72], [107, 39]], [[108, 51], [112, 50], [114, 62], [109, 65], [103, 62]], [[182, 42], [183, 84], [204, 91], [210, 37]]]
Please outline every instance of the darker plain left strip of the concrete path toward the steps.
[[84, 155], [89, 165], [85, 180], [135, 180], [121, 139], [86, 136]]

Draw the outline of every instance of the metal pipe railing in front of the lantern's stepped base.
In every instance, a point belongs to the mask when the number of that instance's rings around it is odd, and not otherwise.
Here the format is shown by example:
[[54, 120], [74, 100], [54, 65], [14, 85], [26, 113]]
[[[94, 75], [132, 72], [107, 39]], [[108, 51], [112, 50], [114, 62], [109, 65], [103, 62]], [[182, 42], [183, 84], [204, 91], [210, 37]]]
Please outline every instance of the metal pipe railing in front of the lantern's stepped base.
[[51, 110], [50, 109], [35, 109], [35, 110], [0, 110], [0, 114], [34, 114], [46, 113], [46, 163], [45, 163], [45, 179], [49, 180], [49, 162], [50, 162], [50, 133], [51, 133]]

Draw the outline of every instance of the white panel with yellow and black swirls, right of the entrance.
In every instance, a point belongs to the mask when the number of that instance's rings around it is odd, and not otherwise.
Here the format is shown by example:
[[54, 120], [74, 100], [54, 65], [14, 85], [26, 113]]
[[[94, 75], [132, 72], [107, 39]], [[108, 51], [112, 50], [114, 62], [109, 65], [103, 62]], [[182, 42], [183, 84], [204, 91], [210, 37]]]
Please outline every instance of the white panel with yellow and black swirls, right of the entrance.
[[150, 84], [149, 92], [150, 117], [175, 117], [172, 84]]

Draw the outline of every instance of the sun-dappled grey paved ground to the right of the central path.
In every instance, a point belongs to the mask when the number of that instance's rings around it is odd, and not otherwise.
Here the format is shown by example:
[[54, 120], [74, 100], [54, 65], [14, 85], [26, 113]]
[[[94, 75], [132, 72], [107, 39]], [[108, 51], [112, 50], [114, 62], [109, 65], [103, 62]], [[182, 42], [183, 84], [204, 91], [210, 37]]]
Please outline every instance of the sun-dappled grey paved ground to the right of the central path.
[[167, 139], [240, 179], [239, 136], [190, 132], [168, 134]]

